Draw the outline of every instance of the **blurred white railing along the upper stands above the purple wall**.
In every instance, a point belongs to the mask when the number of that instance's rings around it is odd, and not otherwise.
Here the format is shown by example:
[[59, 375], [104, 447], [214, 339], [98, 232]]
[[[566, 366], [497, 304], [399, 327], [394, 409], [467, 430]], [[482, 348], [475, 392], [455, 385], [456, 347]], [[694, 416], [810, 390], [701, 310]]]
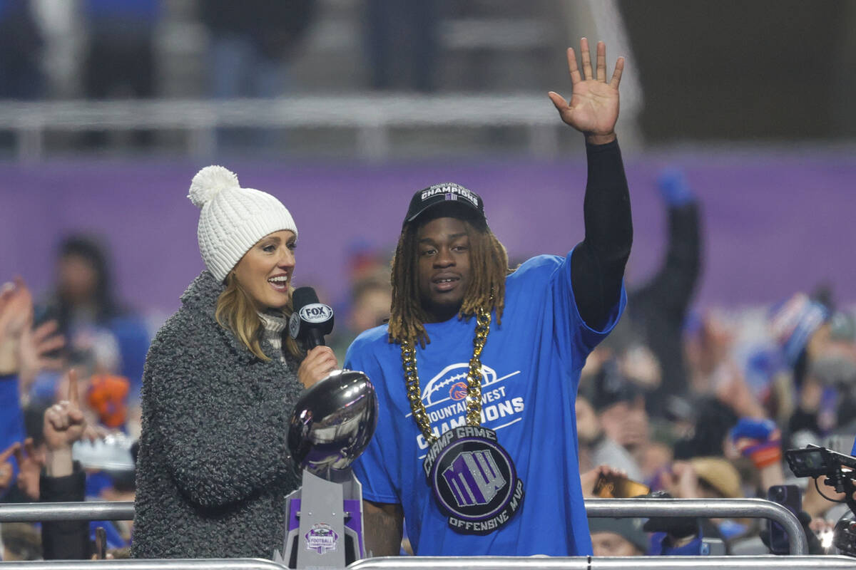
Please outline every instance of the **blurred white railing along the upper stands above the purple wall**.
[[208, 157], [216, 153], [220, 127], [353, 128], [357, 154], [380, 160], [392, 150], [391, 128], [421, 126], [522, 126], [533, 155], [555, 156], [561, 122], [540, 93], [0, 102], [0, 130], [15, 133], [15, 152], [22, 161], [43, 158], [49, 130], [183, 131], [188, 154]]

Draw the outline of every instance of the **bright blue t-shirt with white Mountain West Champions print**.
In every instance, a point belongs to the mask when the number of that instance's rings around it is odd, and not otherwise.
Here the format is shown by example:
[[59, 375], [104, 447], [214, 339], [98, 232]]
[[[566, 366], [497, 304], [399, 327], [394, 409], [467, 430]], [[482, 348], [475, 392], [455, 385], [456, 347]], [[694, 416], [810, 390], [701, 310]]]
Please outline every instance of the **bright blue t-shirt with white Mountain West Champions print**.
[[[401, 345], [387, 327], [360, 335], [345, 367], [360, 370], [377, 390], [377, 432], [354, 463], [363, 497], [401, 503], [407, 535], [418, 555], [591, 555], [580, 489], [574, 403], [586, 356], [618, 321], [613, 309], [603, 331], [583, 322], [571, 287], [571, 254], [537, 256], [506, 279], [502, 325], [496, 314], [482, 353], [482, 426], [496, 431], [523, 480], [514, 517], [486, 535], [453, 531], [437, 507], [422, 468], [428, 445], [411, 415], [401, 369]], [[464, 425], [463, 397], [473, 353], [475, 319], [429, 323], [431, 344], [417, 348], [422, 400], [435, 434]]]

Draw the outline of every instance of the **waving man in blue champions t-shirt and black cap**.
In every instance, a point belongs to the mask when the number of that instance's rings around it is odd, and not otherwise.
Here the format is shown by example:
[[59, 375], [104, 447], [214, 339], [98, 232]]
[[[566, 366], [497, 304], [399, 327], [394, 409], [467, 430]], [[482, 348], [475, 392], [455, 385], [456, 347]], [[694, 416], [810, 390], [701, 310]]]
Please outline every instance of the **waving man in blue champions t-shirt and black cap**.
[[[377, 389], [377, 432], [355, 464], [366, 547], [417, 555], [586, 555], [574, 399], [586, 355], [618, 320], [633, 226], [615, 139], [623, 59], [607, 83], [588, 42], [568, 66], [586, 135], [586, 239], [566, 257], [508, 270], [484, 203], [455, 184], [413, 196], [392, 267], [389, 325], [366, 331], [346, 367]], [[402, 368], [403, 363], [403, 368]]]

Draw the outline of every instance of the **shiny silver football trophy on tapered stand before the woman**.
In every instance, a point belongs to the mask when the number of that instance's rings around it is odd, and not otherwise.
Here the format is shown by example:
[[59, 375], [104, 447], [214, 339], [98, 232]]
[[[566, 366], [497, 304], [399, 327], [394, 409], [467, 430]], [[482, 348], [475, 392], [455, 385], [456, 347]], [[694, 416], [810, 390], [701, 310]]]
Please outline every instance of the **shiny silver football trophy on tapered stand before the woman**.
[[350, 469], [377, 427], [366, 374], [336, 370], [294, 405], [288, 449], [303, 482], [285, 502], [285, 540], [274, 561], [289, 568], [344, 568], [366, 557], [362, 488]]

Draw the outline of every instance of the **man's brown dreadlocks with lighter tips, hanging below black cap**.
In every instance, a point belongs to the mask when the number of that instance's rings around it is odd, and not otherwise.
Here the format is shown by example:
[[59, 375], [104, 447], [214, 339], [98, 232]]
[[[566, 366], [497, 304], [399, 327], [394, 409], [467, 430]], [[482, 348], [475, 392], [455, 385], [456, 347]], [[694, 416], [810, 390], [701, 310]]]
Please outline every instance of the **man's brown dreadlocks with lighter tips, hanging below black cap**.
[[[437, 215], [410, 223], [401, 230], [395, 257], [392, 260], [392, 307], [389, 312], [389, 342], [401, 343], [410, 340], [425, 348], [431, 343], [423, 323], [428, 319], [422, 309], [419, 295], [419, 227]], [[460, 218], [460, 216], [454, 216]], [[502, 323], [505, 308], [505, 278], [508, 269], [508, 252], [490, 228], [481, 220], [461, 219], [467, 226], [470, 238], [470, 270], [473, 279], [464, 294], [458, 318], [469, 318], [479, 307], [486, 311], [496, 310], [496, 322]]]

